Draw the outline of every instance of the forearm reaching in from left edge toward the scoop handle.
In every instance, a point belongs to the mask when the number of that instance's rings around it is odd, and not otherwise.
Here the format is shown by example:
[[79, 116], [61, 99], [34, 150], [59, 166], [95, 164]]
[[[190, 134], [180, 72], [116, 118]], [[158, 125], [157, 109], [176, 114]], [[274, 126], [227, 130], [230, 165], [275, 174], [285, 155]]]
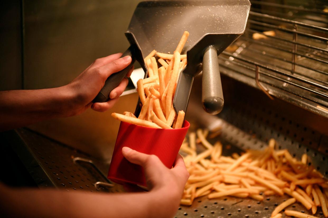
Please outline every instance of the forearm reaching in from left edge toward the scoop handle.
[[0, 92], [0, 131], [68, 116], [72, 93], [66, 87]]

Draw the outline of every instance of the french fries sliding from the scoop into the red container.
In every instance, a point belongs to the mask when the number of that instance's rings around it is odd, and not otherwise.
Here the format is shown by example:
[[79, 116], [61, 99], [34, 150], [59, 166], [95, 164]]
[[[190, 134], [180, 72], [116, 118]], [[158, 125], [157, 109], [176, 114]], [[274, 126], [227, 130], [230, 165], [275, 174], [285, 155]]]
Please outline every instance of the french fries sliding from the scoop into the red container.
[[[112, 113], [120, 121], [151, 128], [181, 128], [185, 112], [180, 110], [176, 116], [173, 98], [179, 74], [187, 65], [187, 55], [180, 55], [189, 32], [185, 31], [174, 54], [164, 54], [153, 50], [145, 59], [148, 77], [139, 79], [137, 91], [142, 108], [138, 117], [131, 112]], [[155, 55], [157, 58], [155, 58]], [[160, 67], [158, 67], [159, 63]]]

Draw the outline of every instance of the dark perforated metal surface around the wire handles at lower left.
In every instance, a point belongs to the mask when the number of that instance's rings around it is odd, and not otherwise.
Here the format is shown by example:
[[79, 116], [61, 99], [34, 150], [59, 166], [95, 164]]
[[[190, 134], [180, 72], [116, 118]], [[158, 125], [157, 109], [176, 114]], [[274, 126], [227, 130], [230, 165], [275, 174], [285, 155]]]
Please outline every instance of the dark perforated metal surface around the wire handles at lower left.
[[[67, 191], [122, 192], [120, 185], [115, 185], [113, 188], [95, 187], [96, 182], [108, 182], [106, 177], [101, 175], [92, 164], [74, 162], [73, 159], [76, 157], [91, 159], [104, 175], [107, 175], [109, 167], [107, 164], [31, 130], [19, 129], [17, 133], [34, 155], [36, 165], [42, 167], [54, 187]], [[29, 172], [34, 179], [38, 178], [31, 169]]]

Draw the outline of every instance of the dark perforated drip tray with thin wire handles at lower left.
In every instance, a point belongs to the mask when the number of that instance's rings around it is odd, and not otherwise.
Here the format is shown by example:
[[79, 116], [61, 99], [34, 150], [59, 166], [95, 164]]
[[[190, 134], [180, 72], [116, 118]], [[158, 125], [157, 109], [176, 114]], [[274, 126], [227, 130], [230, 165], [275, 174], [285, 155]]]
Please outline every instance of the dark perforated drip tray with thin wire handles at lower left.
[[18, 129], [16, 133], [20, 141], [13, 143], [14, 150], [39, 187], [123, 192], [122, 186], [112, 184], [104, 176], [107, 164], [29, 129]]

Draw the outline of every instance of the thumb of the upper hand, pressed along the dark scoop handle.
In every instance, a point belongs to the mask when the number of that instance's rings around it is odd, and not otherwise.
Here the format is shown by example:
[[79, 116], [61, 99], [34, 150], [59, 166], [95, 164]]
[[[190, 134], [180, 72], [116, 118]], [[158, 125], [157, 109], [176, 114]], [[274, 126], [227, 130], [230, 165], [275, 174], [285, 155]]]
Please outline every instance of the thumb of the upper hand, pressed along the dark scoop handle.
[[114, 60], [102, 67], [100, 67], [100, 73], [104, 75], [104, 77], [107, 79], [110, 75], [113, 73], [119, 72], [126, 68], [132, 61], [131, 56], [125, 56], [123, 58]]

